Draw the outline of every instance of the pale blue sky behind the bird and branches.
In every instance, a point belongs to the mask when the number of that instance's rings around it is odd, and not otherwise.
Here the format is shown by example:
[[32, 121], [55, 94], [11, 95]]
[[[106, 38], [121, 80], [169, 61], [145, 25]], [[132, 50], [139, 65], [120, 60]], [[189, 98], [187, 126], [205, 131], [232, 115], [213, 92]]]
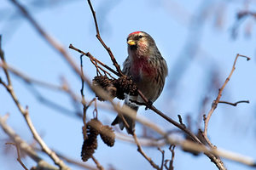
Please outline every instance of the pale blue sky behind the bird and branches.
[[[79, 54], [68, 48], [72, 43], [76, 48], [90, 52], [105, 64], [112, 65], [108, 53], [96, 39], [96, 31], [87, 1], [20, 1], [26, 5], [32, 16], [43, 26], [45, 31], [55, 37], [67, 49], [79, 65]], [[41, 2], [41, 3], [40, 3]], [[219, 104], [210, 120], [208, 134], [212, 144], [219, 148], [251, 156], [256, 160], [256, 62], [255, 62], [255, 20], [248, 17], [237, 25], [237, 36], [232, 36], [232, 29], [237, 23], [236, 14], [242, 10], [256, 10], [255, 1], [170, 1], [170, 0], [98, 0], [92, 1], [102, 39], [121, 64], [127, 57], [126, 37], [133, 31], [146, 31], [152, 37], [166, 59], [169, 76], [163, 93], [154, 105], [168, 116], [177, 120], [177, 114], [191, 117], [191, 125], [196, 129], [203, 127], [201, 112], [211, 109], [212, 100], [218, 94], [228, 77], [236, 54], [247, 55], [250, 61], [239, 58], [236, 71], [224, 88], [221, 100], [236, 102], [248, 99], [250, 104], [236, 107]], [[3, 35], [3, 50], [9, 65], [19, 71], [44, 82], [61, 85], [65, 77], [69, 86], [79, 94], [81, 82], [61, 55], [50, 47], [38, 32], [24, 20], [10, 1], [2, 0], [0, 7], [0, 33]], [[95, 68], [89, 59], [84, 58], [84, 74], [92, 79], [96, 76]], [[3, 78], [3, 70], [0, 70]], [[67, 94], [61, 94], [46, 88], [35, 88], [47, 99], [61, 104], [67, 111], [56, 111], [38, 101], [36, 95], [19, 77], [12, 75], [15, 93], [23, 106], [28, 105], [32, 122], [49, 147], [80, 161], [83, 143], [81, 127], [83, 122], [74, 116], [75, 108]], [[85, 98], [90, 100], [94, 94], [85, 89]], [[202, 101], [207, 97], [205, 110]], [[81, 111], [81, 106], [79, 106]], [[146, 116], [165, 130], [177, 129], [162, 120], [153, 111], [144, 111]], [[33, 143], [24, 118], [15, 107], [9, 94], [0, 86], [0, 115], [9, 113], [8, 124], [15, 129], [22, 139]], [[88, 111], [92, 117], [92, 110]], [[105, 124], [113, 121], [113, 112], [99, 110], [99, 119]], [[200, 118], [199, 118], [200, 117]], [[199, 123], [197, 123], [199, 122]], [[138, 136], [141, 126], [137, 125]], [[124, 132], [125, 133], [125, 132]], [[177, 135], [177, 138], [182, 138]], [[1, 169], [22, 169], [15, 161], [12, 146], [6, 146], [7, 135], [0, 130], [0, 165]], [[148, 161], [137, 152], [134, 144], [117, 140], [109, 148], [98, 139], [98, 149], [94, 156], [103, 167], [115, 169], [152, 169]], [[171, 157], [168, 146], [166, 159]], [[143, 150], [160, 165], [160, 151], [143, 147]], [[14, 150], [13, 150], [14, 151]], [[44, 154], [40, 154], [44, 156]], [[46, 161], [52, 161], [44, 156]], [[35, 163], [30, 158], [22, 159], [27, 167]], [[94, 163], [88, 161], [91, 165]], [[253, 169], [239, 163], [224, 160], [228, 169]], [[80, 169], [79, 167], [73, 169]], [[217, 169], [207, 156], [192, 156], [175, 149], [175, 169]]]

